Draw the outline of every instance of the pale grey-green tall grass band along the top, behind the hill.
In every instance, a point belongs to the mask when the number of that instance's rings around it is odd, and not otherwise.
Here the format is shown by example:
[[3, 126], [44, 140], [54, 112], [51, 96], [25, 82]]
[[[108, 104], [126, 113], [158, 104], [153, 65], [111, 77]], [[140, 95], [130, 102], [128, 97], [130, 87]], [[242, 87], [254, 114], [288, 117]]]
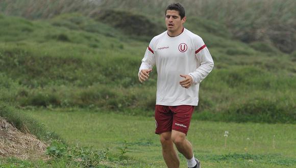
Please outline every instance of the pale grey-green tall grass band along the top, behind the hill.
[[[293, 0], [201, 0], [180, 1], [187, 16], [215, 20], [228, 27], [234, 37], [244, 41], [271, 42], [284, 52], [295, 50], [296, 2]], [[0, 12], [27, 18], [52, 18], [56, 15], [80, 12], [91, 15], [102, 9], [134, 11], [150, 16], [163, 17], [172, 1], [1, 1]], [[114, 20], [116, 21], [116, 20]], [[117, 20], [118, 21], [118, 20]], [[198, 24], [198, 22], [196, 23]], [[132, 26], [132, 24], [131, 24]], [[139, 25], [141, 26], [141, 25]]]

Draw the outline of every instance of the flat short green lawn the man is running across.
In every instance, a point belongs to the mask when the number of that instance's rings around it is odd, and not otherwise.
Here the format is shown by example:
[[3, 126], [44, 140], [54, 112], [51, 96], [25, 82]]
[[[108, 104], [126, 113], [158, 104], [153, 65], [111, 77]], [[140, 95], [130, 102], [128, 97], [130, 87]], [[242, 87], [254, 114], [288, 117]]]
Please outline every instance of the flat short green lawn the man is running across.
[[[153, 117], [81, 109], [24, 112], [71, 146], [108, 148], [113, 154], [127, 147], [127, 163], [122, 167], [165, 167]], [[204, 167], [296, 166], [296, 150], [292, 148], [296, 146], [295, 129], [292, 124], [192, 120], [188, 139]], [[229, 131], [226, 147], [225, 131]], [[184, 157], [180, 158], [181, 167], [185, 167]]]

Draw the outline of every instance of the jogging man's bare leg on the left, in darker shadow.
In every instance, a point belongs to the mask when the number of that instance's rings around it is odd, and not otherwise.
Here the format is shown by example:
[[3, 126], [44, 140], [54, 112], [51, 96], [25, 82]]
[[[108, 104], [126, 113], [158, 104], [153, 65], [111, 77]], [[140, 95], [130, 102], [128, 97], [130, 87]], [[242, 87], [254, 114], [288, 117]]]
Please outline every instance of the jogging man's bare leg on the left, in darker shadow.
[[[173, 130], [174, 131], [174, 130]], [[169, 168], [178, 168], [180, 165], [179, 157], [174, 149], [174, 143], [171, 139], [171, 132], [163, 132], [160, 134], [160, 142], [162, 146], [163, 159]]]

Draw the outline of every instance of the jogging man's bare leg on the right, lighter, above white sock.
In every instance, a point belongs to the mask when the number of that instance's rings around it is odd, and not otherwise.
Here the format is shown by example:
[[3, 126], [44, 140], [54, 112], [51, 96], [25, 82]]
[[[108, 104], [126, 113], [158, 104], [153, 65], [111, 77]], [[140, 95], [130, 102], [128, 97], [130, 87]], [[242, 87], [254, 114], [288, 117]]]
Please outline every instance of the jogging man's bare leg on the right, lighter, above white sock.
[[176, 130], [171, 131], [172, 142], [176, 145], [178, 151], [182, 153], [186, 159], [193, 157], [193, 150], [191, 143], [187, 140], [186, 134]]

